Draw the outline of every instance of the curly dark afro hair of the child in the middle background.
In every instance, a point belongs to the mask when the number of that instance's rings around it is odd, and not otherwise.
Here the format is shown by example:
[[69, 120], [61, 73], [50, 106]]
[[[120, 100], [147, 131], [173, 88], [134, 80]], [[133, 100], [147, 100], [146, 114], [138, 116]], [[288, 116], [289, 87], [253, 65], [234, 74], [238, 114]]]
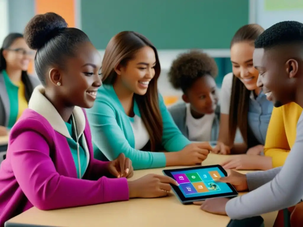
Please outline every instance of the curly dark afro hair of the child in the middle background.
[[216, 77], [218, 66], [215, 59], [201, 51], [192, 50], [180, 54], [172, 63], [168, 72], [171, 85], [175, 89], [182, 89], [184, 93], [205, 75]]

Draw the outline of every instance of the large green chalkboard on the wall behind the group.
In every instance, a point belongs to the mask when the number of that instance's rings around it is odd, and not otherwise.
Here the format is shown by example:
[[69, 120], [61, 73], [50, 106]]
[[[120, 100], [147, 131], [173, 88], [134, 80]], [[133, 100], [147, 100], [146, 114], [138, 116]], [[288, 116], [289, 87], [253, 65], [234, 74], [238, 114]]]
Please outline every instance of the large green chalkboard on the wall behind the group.
[[229, 48], [248, 23], [248, 0], [82, 0], [82, 30], [98, 49], [131, 30], [158, 49]]

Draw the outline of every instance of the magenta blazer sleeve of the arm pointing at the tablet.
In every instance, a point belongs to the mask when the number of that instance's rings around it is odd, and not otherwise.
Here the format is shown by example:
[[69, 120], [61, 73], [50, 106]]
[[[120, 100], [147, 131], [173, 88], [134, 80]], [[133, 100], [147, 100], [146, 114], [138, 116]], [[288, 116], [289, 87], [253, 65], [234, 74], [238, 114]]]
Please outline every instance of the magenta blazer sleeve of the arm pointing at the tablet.
[[[23, 125], [29, 126], [22, 127], [22, 121], [26, 121]], [[37, 128], [39, 131], [35, 130]], [[38, 119], [23, 119], [18, 122], [18, 129], [12, 131], [9, 144], [12, 170], [25, 196], [38, 209], [61, 209], [129, 199], [125, 178], [109, 179], [103, 176], [92, 181], [59, 175], [50, 157], [50, 141], [43, 136], [44, 133], [51, 133]], [[104, 170], [107, 163], [93, 161], [91, 164], [92, 172], [98, 172]]]

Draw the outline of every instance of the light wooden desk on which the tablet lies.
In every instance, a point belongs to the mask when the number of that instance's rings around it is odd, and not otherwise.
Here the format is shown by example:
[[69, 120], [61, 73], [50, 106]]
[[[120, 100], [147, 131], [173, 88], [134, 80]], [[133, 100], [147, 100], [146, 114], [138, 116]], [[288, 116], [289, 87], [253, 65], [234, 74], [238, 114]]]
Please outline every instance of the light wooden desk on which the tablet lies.
[[[210, 154], [203, 165], [221, 163], [230, 156]], [[171, 167], [175, 168], [175, 167]], [[137, 170], [132, 179], [148, 173], [162, 174], [162, 169]], [[132, 180], [130, 179], [130, 180]], [[101, 192], [100, 192], [101, 193]], [[261, 206], [261, 205], [260, 205]], [[265, 214], [265, 226], [271, 227], [277, 212]], [[227, 216], [203, 212], [196, 205], [182, 205], [175, 196], [156, 199], [131, 199], [61, 210], [42, 211], [31, 208], [10, 219], [8, 223], [50, 226], [122, 226], [122, 227], [166, 227], [166, 226], [226, 226]]]

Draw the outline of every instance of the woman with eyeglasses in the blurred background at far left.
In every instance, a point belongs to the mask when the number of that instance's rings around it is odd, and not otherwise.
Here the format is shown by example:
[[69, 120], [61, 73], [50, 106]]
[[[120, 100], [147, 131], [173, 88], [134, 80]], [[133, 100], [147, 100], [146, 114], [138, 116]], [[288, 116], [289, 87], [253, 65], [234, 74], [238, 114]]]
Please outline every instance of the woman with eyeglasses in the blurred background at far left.
[[34, 56], [22, 34], [11, 33], [4, 39], [0, 49], [0, 136], [13, 127], [28, 107], [33, 89], [40, 83], [27, 74]]

